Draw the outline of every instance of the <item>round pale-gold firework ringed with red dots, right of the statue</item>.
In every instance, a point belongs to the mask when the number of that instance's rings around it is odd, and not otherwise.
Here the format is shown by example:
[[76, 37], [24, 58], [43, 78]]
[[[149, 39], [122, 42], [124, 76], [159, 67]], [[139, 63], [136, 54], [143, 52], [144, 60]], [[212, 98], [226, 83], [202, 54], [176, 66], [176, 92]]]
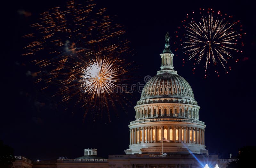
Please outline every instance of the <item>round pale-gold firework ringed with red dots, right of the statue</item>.
[[[193, 15], [195, 15], [194, 13]], [[185, 50], [185, 55], [188, 56], [188, 60], [196, 61], [194, 65], [205, 60], [205, 72], [211, 62], [215, 66], [219, 62], [228, 73], [228, 59], [233, 58], [233, 55], [236, 55], [234, 53], [242, 52], [238, 46], [238, 41], [241, 41], [242, 38], [242, 34], [238, 31], [242, 31], [242, 26], [238, 29], [239, 21], [228, 21], [228, 19], [232, 20], [233, 17], [227, 16], [227, 14], [222, 15], [220, 11], [214, 12], [212, 9], [200, 9], [200, 16], [201, 19], [197, 20], [197, 17], [189, 17], [187, 14], [187, 19], [182, 20], [185, 28], [183, 33], [185, 39], [180, 39], [180, 42], [182, 42], [181, 46]], [[176, 37], [179, 38], [178, 34]], [[240, 44], [244, 46], [243, 42]], [[183, 63], [185, 63], [184, 59]], [[195, 68], [193, 68], [194, 70]]]

